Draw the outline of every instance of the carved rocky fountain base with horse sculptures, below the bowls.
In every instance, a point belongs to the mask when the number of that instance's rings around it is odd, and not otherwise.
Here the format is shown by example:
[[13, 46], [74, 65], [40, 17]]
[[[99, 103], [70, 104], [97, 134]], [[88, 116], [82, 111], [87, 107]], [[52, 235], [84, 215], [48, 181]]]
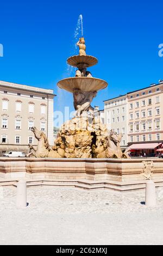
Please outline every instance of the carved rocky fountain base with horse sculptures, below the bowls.
[[120, 148], [121, 135], [106, 129], [99, 118], [74, 117], [66, 121], [50, 147], [45, 133], [33, 127], [37, 148], [30, 147], [29, 156], [67, 158], [129, 158]]

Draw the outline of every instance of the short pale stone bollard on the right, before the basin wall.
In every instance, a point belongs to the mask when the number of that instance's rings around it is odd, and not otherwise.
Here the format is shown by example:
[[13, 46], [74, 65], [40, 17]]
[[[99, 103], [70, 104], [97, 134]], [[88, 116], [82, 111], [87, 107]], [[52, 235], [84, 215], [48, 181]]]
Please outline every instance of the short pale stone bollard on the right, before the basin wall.
[[155, 185], [153, 180], [147, 180], [146, 182], [146, 206], [155, 206]]

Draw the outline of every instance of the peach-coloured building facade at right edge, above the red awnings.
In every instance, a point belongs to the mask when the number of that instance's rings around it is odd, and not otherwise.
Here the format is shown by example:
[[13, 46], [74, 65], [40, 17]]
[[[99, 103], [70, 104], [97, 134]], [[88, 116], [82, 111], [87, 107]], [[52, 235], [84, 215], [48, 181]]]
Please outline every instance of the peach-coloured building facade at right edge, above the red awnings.
[[163, 81], [127, 94], [129, 145], [163, 142]]

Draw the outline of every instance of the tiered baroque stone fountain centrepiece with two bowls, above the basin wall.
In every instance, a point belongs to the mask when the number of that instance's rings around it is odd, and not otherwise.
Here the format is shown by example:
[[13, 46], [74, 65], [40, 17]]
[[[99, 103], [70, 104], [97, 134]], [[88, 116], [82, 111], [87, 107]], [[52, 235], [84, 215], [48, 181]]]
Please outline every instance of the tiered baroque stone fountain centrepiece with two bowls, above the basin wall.
[[91, 102], [97, 91], [104, 89], [108, 83], [92, 77], [87, 71], [98, 63], [97, 58], [86, 54], [84, 37], [77, 42], [79, 55], [67, 59], [67, 63], [78, 68], [75, 77], [68, 77], [58, 82], [58, 87], [73, 93], [74, 118], [66, 121], [58, 132], [54, 146], [50, 147], [45, 133], [33, 127], [38, 146], [30, 147], [28, 156], [67, 157], [67, 158], [129, 158], [127, 151], [122, 153], [120, 142], [122, 135], [108, 131], [100, 118], [95, 117]]

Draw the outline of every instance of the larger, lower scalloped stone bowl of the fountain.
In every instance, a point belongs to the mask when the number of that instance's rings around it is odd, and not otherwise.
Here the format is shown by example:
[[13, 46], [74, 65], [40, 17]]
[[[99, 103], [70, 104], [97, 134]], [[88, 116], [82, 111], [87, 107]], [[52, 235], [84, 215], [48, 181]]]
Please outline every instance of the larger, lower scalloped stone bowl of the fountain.
[[59, 88], [73, 93], [74, 89], [80, 89], [82, 92], [94, 92], [106, 88], [108, 83], [95, 77], [69, 77], [60, 80], [57, 85]]

